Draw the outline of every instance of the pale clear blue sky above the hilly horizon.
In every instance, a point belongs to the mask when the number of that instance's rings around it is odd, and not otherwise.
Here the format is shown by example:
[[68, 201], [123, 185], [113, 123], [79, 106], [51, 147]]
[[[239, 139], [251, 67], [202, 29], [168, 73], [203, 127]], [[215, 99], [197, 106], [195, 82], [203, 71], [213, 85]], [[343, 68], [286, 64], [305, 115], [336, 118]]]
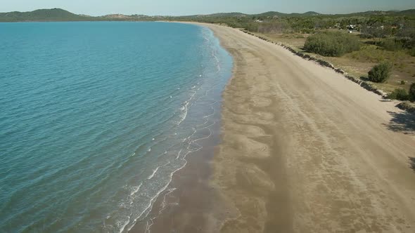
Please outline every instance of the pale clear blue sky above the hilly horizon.
[[351, 13], [415, 8], [415, 0], [0, 0], [0, 12], [63, 8], [72, 13], [196, 15], [219, 12]]

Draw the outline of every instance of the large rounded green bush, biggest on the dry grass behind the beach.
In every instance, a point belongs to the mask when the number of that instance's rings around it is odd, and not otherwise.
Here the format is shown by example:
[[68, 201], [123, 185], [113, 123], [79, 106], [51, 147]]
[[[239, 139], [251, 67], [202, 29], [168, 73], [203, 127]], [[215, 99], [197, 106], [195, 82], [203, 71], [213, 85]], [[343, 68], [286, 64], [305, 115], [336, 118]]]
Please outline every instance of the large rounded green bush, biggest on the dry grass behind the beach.
[[321, 32], [309, 36], [305, 41], [306, 51], [329, 57], [340, 57], [345, 53], [358, 51], [359, 40], [350, 34], [341, 32]]

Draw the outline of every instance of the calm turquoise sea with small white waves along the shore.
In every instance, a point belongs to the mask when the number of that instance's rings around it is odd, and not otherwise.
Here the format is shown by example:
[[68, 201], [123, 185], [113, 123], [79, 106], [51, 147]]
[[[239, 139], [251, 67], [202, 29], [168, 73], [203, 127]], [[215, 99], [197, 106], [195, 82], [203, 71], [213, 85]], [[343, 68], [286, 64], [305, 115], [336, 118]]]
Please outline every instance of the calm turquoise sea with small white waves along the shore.
[[0, 232], [127, 232], [209, 140], [232, 61], [210, 29], [0, 23]]

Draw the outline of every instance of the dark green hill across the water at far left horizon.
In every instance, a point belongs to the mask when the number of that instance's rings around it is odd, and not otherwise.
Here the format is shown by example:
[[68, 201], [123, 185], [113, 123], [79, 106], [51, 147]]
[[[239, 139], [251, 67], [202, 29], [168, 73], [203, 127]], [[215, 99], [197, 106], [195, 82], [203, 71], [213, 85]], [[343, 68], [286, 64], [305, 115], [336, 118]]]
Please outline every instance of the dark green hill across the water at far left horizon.
[[21, 21], [82, 21], [91, 20], [85, 15], [76, 15], [60, 8], [41, 9], [30, 12], [8, 12], [0, 13], [1, 22], [21, 22]]

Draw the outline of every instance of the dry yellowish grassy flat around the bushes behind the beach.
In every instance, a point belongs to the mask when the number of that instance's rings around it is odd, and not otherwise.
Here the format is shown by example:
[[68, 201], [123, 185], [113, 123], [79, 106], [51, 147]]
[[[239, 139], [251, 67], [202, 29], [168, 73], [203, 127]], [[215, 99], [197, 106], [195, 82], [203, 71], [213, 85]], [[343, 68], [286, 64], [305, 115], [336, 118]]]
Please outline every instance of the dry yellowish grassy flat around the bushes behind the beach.
[[[333, 31], [324, 30], [326, 31]], [[338, 29], [336, 31], [339, 31]], [[347, 33], [343, 30], [344, 33]], [[290, 33], [290, 34], [262, 34], [255, 33], [258, 36], [263, 36], [271, 41], [286, 44], [295, 49], [295, 51], [307, 53], [304, 49], [305, 42], [312, 34]], [[395, 88], [404, 88], [409, 90], [409, 86], [415, 83], [415, 57], [411, 56], [411, 51], [407, 49], [398, 49], [397, 51], [388, 51], [385, 48], [376, 45], [378, 39], [364, 39], [359, 33], [353, 33], [362, 46], [359, 51], [346, 53], [339, 57], [329, 57], [318, 55], [315, 53], [307, 53], [322, 60], [331, 62], [335, 67], [345, 70], [364, 81], [368, 81], [369, 70], [379, 62], [389, 61], [392, 64], [392, 74], [390, 79], [383, 84], [373, 84], [381, 90], [392, 93]], [[402, 82], [404, 81], [404, 82]]]

